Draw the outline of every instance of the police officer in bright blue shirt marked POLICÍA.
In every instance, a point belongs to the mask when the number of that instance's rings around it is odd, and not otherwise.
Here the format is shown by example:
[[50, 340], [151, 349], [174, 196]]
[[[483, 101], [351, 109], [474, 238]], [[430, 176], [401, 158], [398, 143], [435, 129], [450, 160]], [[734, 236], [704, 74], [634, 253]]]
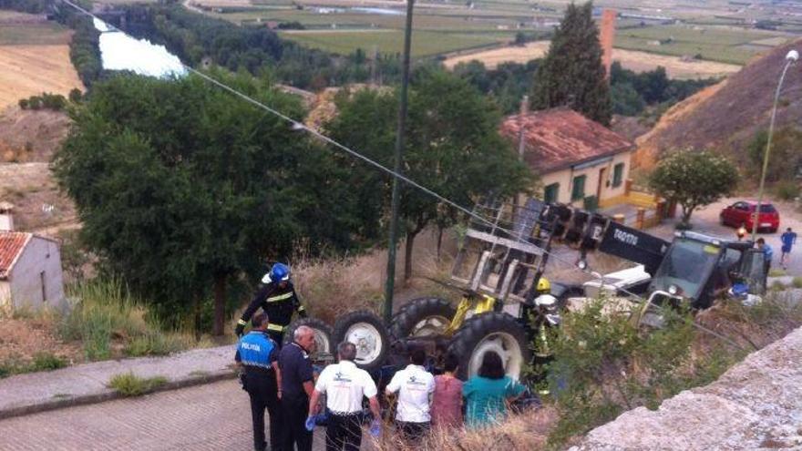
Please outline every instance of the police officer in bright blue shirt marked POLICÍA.
[[253, 449], [264, 451], [264, 409], [270, 415], [270, 447], [281, 449], [282, 414], [281, 391], [282, 374], [278, 365], [278, 346], [268, 336], [267, 315], [258, 313], [252, 319], [253, 329], [237, 343], [234, 359], [242, 364], [244, 374], [242, 389], [251, 396], [251, 415], [253, 421]]

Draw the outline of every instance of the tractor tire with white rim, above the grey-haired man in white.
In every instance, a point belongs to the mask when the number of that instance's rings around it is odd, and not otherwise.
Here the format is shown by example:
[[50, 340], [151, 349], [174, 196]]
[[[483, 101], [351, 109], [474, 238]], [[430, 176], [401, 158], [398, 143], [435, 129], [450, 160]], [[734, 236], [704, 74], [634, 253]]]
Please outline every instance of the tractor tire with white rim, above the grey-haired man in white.
[[358, 310], [341, 316], [334, 323], [334, 346], [349, 342], [356, 345], [356, 366], [365, 371], [377, 370], [385, 364], [390, 336], [385, 323], [372, 312]]

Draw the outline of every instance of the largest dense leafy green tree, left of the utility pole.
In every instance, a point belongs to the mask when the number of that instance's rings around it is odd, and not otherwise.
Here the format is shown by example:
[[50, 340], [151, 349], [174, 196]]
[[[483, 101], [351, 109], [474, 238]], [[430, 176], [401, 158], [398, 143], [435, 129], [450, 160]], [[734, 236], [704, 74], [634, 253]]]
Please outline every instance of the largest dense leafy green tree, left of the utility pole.
[[[303, 117], [297, 99], [266, 82], [215, 77]], [[232, 282], [297, 241], [312, 250], [351, 242], [352, 197], [330, 154], [200, 78], [113, 77], [73, 119], [54, 169], [83, 239], [167, 318], [200, 314], [213, 292], [221, 334]]]

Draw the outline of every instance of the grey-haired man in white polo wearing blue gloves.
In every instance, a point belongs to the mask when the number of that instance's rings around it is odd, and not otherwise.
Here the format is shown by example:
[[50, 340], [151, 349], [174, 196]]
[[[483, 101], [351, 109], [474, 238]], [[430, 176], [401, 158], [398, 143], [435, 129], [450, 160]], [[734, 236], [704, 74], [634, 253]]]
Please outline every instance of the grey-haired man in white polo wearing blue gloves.
[[354, 343], [337, 345], [339, 364], [326, 366], [317, 378], [312, 398], [309, 400], [309, 415], [317, 415], [320, 410], [320, 395], [326, 395], [326, 408], [329, 411], [326, 425], [326, 451], [359, 451], [362, 444], [362, 397], [370, 402], [374, 417], [372, 430], [380, 427], [381, 413], [376, 398], [376, 386], [370, 374], [354, 364], [356, 346]]

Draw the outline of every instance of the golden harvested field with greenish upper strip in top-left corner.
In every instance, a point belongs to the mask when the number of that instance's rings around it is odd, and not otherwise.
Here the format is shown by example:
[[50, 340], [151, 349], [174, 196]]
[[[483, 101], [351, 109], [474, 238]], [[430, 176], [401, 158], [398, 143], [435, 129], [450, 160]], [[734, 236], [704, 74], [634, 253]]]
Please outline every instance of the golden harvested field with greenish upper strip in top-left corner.
[[69, 60], [71, 31], [34, 15], [23, 19], [28, 23], [0, 21], [0, 109], [42, 92], [66, 96], [83, 88]]

